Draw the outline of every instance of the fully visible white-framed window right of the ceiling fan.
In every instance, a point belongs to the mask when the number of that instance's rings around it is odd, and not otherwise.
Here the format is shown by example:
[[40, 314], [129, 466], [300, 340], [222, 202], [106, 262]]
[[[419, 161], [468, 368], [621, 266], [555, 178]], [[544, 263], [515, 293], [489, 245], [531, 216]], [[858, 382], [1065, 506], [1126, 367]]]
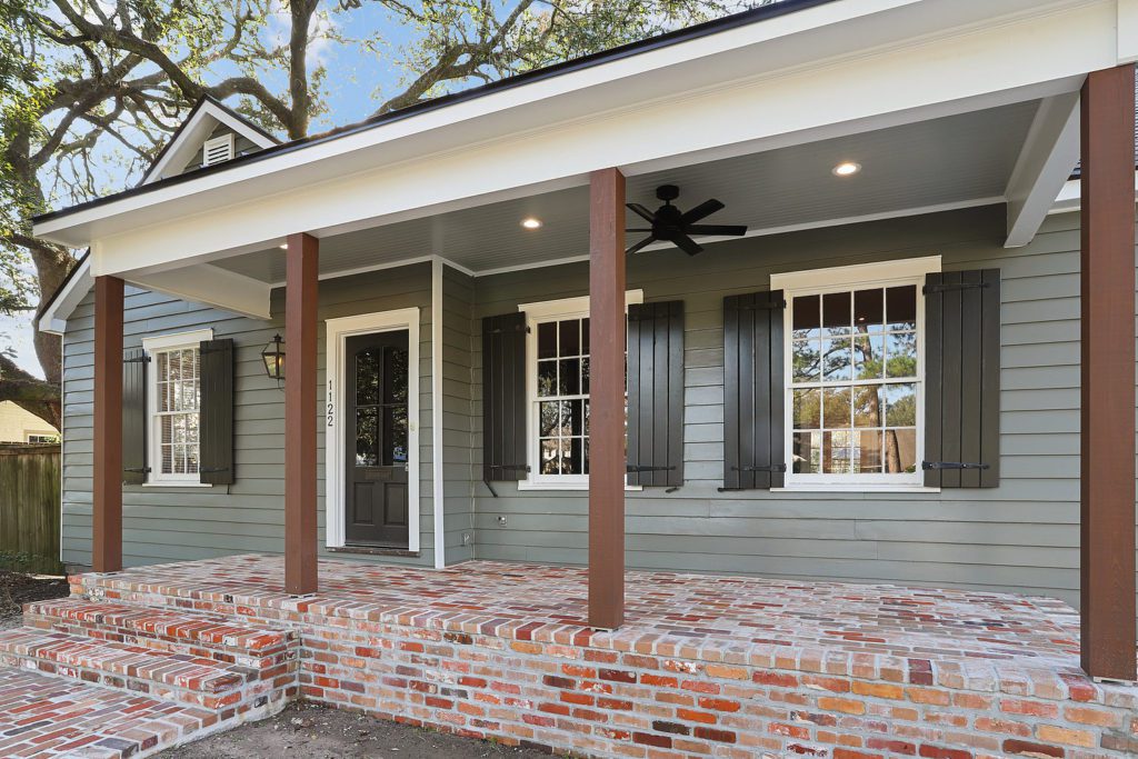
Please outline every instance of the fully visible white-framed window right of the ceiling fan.
[[935, 270], [922, 258], [772, 278], [786, 297], [787, 487], [921, 485], [921, 286]]

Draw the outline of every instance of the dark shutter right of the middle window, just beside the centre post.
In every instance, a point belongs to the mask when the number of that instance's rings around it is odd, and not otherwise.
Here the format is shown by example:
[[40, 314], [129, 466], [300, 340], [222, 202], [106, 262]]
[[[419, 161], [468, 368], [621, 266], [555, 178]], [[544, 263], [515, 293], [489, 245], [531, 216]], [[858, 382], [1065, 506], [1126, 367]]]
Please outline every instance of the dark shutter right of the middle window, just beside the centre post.
[[684, 484], [684, 302], [628, 306], [628, 484]]

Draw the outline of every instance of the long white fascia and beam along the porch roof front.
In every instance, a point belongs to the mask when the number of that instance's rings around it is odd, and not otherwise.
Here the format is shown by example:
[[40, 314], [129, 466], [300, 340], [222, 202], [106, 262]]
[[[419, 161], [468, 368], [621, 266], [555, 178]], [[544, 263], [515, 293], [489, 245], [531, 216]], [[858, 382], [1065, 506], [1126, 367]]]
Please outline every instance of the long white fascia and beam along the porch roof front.
[[[898, 24], [908, 32], [913, 31], [914, 18], [926, 25], [940, 18], [915, 15], [916, 6], [937, 7], [941, 16], [951, 16], [959, 8], [991, 6], [973, 0], [892, 5], [912, 6], [902, 9], [912, 11], [902, 18], [907, 25]], [[1000, 8], [1022, 5], [1026, 3], [1008, 2]], [[830, 3], [814, 10], [831, 6], [849, 8], [851, 3]], [[780, 61], [773, 60], [774, 53], [766, 48], [736, 47], [729, 55], [709, 53], [694, 59], [691, 71], [677, 64], [669, 71], [638, 74], [635, 85], [629, 77], [616, 89], [600, 88], [572, 97], [562, 93], [564, 97], [556, 101], [556, 107], [538, 104], [528, 109], [487, 112], [477, 126], [453, 129], [454, 124], [448, 127], [440, 122], [459, 117], [463, 109], [485, 110], [496, 96], [479, 98], [382, 129], [349, 134], [343, 140], [315, 143], [200, 180], [164, 187], [152, 193], [156, 197], [149, 193], [127, 197], [49, 220], [36, 225], [36, 233], [50, 239], [93, 234], [98, 242], [93, 246], [94, 270], [102, 273], [183, 265], [188, 259], [267, 248], [271, 240], [292, 231], [319, 237], [519, 193], [583, 184], [589, 171], [608, 166], [620, 166], [626, 174], [636, 174], [658, 168], [661, 163], [679, 165], [677, 162], [685, 160], [684, 157], [688, 163], [707, 159], [712, 151], [717, 151], [716, 157], [732, 150], [739, 155], [1075, 91], [1086, 72], [1114, 60], [1114, 6], [1103, 0], [1064, 3], [1058, 10], [1049, 10], [1021, 13], [999, 24], [971, 24], [965, 31], [933, 30], [918, 39], [904, 36], [894, 44], [858, 49], [789, 69], [752, 73], [744, 79], [740, 79], [741, 72]], [[596, 77], [613, 66], [646, 61], [668, 51], [675, 56], [675, 49], [686, 50], [688, 44], [717, 40], [718, 44], [719, 38], [744, 32], [753, 35], [754, 30], [767, 26], [764, 23], [740, 27], [579, 74]], [[855, 25], [846, 32], [847, 36], [864, 38], [861, 32], [880, 34], [873, 30], [882, 27], [889, 25]], [[814, 33], [826, 32], [833, 30]], [[805, 38], [792, 40], [789, 47], [801, 51], [805, 41]], [[1056, 55], [1057, 50], [1063, 53]], [[693, 71], [717, 83], [683, 92], [665, 86], [669, 81], [674, 84], [685, 77], [694, 83]], [[539, 93], [543, 88], [563, 88], [576, 76], [559, 76], [501, 94], [517, 99], [522, 93]], [[597, 108], [599, 104], [611, 101], [613, 93], [617, 100], [627, 101], [644, 92], [666, 94], [625, 102], [616, 109]], [[563, 109], [575, 116], [566, 119]], [[535, 121], [538, 115], [541, 124]], [[436, 129], [428, 129], [431, 119], [438, 122]], [[519, 124], [538, 127], [519, 132]], [[401, 131], [405, 139], [399, 137]], [[487, 134], [492, 137], [480, 139]], [[381, 139], [387, 141], [380, 151], [384, 160], [379, 166], [368, 167], [374, 163], [369, 150], [381, 145]], [[361, 142], [365, 140], [370, 145]], [[361, 143], [356, 154], [332, 155], [355, 143]], [[295, 165], [272, 176], [255, 175], [278, 159]], [[178, 203], [166, 203], [165, 208], [159, 203], [158, 207], [140, 214], [107, 215], [112, 206], [134, 205], [138, 211], [141, 204], [152, 205], [167, 195], [173, 200], [173, 193], [185, 195], [191, 189], [195, 193]], [[204, 213], [208, 213], [208, 218], [200, 215]], [[97, 218], [100, 214], [105, 216], [101, 220]], [[89, 218], [83, 221], [84, 216]]]

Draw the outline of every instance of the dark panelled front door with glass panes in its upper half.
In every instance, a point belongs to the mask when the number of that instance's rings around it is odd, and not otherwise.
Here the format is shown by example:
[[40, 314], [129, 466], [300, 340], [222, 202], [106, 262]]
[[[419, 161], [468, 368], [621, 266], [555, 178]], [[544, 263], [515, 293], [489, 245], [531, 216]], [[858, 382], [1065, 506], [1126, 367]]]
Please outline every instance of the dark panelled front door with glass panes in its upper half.
[[345, 536], [406, 548], [407, 330], [349, 337], [345, 354]]

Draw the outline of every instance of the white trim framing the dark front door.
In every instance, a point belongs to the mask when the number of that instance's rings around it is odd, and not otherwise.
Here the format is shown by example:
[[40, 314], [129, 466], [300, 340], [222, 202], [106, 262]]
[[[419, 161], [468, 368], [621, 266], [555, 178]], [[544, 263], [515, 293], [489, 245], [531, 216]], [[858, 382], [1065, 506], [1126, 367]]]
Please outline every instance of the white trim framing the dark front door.
[[373, 314], [329, 319], [328, 363], [324, 369], [324, 542], [343, 548], [344, 529], [344, 409], [345, 341], [355, 335], [407, 330], [407, 551], [419, 551], [419, 308], [399, 308]]

